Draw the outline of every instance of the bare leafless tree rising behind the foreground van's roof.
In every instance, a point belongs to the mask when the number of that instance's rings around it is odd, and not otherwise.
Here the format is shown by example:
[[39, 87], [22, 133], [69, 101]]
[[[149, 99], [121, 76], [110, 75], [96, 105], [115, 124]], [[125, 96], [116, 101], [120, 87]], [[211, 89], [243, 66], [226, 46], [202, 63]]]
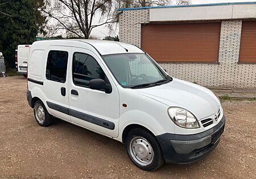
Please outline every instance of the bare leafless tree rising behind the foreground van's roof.
[[46, 6], [42, 11], [48, 15], [48, 20], [53, 20], [52, 33], [65, 30], [71, 36], [89, 39], [93, 28], [116, 21], [108, 16], [104, 22], [93, 23], [97, 13], [109, 14], [112, 0], [48, 0]]

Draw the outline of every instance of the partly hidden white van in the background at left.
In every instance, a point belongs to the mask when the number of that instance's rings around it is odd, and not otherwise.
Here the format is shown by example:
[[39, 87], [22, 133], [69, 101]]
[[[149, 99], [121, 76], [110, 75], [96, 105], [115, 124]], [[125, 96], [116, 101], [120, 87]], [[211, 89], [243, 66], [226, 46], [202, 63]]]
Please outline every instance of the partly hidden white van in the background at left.
[[15, 51], [16, 68], [19, 74], [27, 76], [27, 62], [30, 55], [31, 45], [18, 45], [18, 49]]

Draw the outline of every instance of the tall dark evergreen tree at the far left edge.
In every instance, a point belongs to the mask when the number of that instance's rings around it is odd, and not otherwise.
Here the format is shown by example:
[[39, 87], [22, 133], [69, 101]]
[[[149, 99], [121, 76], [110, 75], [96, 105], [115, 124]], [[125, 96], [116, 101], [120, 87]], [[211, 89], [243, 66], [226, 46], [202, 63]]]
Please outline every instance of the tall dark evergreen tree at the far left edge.
[[39, 32], [37, 9], [32, 0], [0, 0], [0, 3], [0, 11], [10, 15], [1, 15], [0, 18], [0, 51], [5, 56], [7, 67], [15, 67], [16, 46], [32, 44], [36, 40]]

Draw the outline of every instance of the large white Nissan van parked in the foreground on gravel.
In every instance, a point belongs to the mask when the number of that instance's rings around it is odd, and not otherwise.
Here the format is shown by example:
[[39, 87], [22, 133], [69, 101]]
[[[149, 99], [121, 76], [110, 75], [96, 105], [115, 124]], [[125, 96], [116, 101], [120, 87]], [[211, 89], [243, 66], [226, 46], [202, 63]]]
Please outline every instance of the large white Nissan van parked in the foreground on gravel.
[[57, 117], [118, 140], [146, 171], [202, 159], [225, 126], [210, 90], [172, 78], [143, 50], [122, 42], [34, 42], [27, 100], [40, 126]]

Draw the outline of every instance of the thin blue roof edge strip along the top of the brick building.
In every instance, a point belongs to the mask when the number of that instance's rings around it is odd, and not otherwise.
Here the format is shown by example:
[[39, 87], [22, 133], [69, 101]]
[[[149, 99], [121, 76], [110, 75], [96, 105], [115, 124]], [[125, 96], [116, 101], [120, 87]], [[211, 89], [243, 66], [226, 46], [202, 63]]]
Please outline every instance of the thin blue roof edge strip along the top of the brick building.
[[221, 6], [221, 5], [241, 5], [241, 4], [256, 4], [256, 2], [227, 2], [227, 3], [209, 3], [209, 4], [201, 4], [201, 5], [127, 7], [127, 8], [118, 8], [118, 11], [138, 10], [138, 9], [146, 9], [146, 8], [193, 7], [193, 6]]

